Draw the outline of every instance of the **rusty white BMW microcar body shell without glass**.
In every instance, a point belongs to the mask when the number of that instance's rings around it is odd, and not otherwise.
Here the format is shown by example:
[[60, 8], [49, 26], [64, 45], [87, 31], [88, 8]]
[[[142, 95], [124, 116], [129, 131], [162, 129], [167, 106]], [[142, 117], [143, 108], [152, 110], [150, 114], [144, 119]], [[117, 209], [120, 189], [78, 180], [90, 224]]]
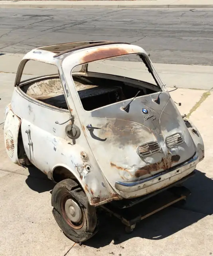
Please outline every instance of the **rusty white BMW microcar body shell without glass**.
[[[72, 70], [82, 64], [126, 54], [142, 54], [146, 58], [159, 88], [154, 89], [155, 93], [135, 98], [129, 113], [122, 107], [130, 100], [85, 111], [71, 76]], [[29, 82], [20, 83], [28, 60], [57, 66], [67, 110], [40, 102], [20, 89]], [[87, 65], [83, 65], [81, 72], [87, 74]], [[37, 78], [30, 80], [34, 81]], [[160, 104], [154, 101], [156, 97], [160, 97]], [[142, 108], [149, 114], [142, 115]], [[75, 141], [65, 132], [67, 124], [73, 123], [80, 130]], [[98, 129], [88, 129], [88, 124]], [[5, 110], [6, 150], [16, 164], [20, 164], [19, 132], [32, 164], [52, 180], [55, 170], [60, 169], [62, 174], [63, 170], [68, 170], [94, 206], [160, 190], [193, 172], [204, 158], [201, 135], [194, 124], [179, 113], [146, 51], [126, 43], [77, 42], [28, 52], [18, 67], [12, 100]], [[169, 148], [166, 139], [174, 134], [181, 134], [183, 141]], [[138, 147], [147, 142], [158, 142], [160, 151], [141, 158]]]

